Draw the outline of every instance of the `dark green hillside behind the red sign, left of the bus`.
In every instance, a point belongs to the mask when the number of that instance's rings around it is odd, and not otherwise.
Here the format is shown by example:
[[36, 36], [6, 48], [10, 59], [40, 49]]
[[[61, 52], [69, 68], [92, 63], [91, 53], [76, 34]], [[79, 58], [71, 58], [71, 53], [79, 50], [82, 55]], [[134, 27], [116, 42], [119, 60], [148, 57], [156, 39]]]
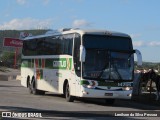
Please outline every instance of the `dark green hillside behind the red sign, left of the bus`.
[[[14, 55], [15, 48], [14, 47], [4, 47], [3, 40], [4, 38], [19, 38], [20, 32], [31, 33], [33, 36], [42, 35], [46, 33], [48, 30], [0, 30], [0, 66], [9, 66], [13, 67], [14, 65]], [[7, 52], [6, 52], [7, 51]], [[17, 65], [21, 63], [21, 49], [17, 51]]]

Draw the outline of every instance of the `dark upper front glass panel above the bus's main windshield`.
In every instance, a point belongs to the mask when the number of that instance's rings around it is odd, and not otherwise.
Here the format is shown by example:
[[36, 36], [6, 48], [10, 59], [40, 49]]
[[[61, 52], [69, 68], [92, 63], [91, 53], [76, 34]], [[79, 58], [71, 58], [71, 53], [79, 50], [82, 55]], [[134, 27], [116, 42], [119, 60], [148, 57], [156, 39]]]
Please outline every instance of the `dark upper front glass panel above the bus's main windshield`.
[[110, 50], [132, 50], [132, 42], [129, 37], [117, 37], [107, 35], [84, 35], [83, 44], [86, 48], [101, 48]]

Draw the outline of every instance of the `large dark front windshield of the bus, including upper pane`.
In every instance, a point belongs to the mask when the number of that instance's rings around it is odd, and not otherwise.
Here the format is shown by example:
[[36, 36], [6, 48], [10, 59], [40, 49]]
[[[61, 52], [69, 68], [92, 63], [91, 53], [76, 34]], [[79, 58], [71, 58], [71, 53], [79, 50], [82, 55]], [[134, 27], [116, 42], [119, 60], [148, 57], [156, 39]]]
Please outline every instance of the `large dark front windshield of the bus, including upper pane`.
[[[83, 39], [86, 48], [86, 59], [83, 63], [83, 78], [112, 81], [132, 80], [134, 59], [131, 49], [132, 45], [129, 42], [130, 39], [123, 40], [120, 38], [114, 40], [111, 38], [108, 41], [106, 36], [100, 36], [99, 42], [97, 42], [97, 37], [91, 36], [92, 39], [88, 37], [84, 37]], [[89, 44], [88, 42], [91, 40], [92, 42]], [[112, 42], [110, 42], [111, 40]], [[95, 42], [97, 42], [97, 46]], [[113, 43], [116, 46], [114, 50]]]

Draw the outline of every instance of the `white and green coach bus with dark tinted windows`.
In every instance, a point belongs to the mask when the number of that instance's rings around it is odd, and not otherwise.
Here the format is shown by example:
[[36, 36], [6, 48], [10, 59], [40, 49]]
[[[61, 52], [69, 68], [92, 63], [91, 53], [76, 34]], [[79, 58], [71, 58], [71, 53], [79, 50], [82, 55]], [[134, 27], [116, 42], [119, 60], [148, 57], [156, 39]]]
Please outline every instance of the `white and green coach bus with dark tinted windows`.
[[131, 99], [134, 53], [131, 37], [107, 30], [63, 29], [23, 40], [21, 85], [31, 94], [75, 98]]

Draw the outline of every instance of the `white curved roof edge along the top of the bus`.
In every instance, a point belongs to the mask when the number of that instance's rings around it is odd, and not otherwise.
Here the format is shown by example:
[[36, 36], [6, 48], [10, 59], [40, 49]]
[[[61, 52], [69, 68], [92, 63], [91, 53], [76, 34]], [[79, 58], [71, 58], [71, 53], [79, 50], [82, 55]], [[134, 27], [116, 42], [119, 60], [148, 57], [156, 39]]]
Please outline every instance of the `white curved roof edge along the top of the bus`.
[[81, 35], [91, 34], [91, 35], [109, 35], [109, 36], [119, 36], [119, 37], [130, 37], [128, 34], [125, 34], [125, 33], [108, 31], [108, 30], [62, 29], [62, 30], [48, 31], [46, 32], [46, 34], [43, 34], [43, 35], [26, 37], [23, 40], [30, 40], [34, 38], [43, 38], [43, 37], [50, 37], [53, 35], [63, 35], [63, 34], [70, 34], [70, 33], [79, 33]]

